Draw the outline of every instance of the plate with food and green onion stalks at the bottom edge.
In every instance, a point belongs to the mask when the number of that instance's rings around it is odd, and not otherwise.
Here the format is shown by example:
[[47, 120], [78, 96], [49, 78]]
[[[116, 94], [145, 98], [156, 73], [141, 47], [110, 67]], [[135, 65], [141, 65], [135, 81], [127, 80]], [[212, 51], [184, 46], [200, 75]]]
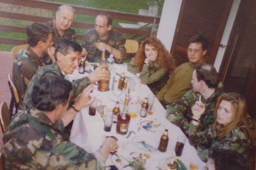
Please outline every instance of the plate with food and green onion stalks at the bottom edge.
[[163, 170], [187, 170], [187, 166], [176, 156], [161, 160], [159, 165]]

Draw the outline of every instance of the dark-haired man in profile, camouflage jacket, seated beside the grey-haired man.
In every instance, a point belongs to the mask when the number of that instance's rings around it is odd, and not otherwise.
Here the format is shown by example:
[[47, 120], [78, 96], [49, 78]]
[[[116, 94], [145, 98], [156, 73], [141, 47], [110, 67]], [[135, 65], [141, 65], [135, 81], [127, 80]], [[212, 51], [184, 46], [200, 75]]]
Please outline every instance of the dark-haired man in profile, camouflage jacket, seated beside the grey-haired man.
[[12, 80], [18, 91], [20, 102], [24, 99], [27, 85], [32, 76], [44, 65], [42, 55], [52, 46], [51, 28], [45, 24], [34, 22], [27, 27], [29, 47], [20, 50], [14, 59]]

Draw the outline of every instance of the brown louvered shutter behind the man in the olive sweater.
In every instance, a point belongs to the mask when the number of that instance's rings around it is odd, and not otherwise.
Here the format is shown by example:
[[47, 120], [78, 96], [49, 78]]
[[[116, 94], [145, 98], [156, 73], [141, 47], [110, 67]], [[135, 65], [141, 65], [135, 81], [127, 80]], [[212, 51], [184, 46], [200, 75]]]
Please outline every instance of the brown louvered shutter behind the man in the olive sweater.
[[206, 61], [214, 64], [233, 0], [183, 0], [170, 53], [176, 66], [188, 62], [187, 41], [200, 34], [209, 41]]

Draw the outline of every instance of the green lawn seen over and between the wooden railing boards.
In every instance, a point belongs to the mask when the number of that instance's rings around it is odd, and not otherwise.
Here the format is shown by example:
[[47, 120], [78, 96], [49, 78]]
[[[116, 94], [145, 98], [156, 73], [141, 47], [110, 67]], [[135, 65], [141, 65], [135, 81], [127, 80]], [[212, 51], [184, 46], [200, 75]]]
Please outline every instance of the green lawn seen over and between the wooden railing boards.
[[[158, 1], [158, 2], [160, 1], [159, 8], [158, 8], [158, 16], [161, 16], [162, 6], [163, 6], [163, 0], [75, 0], [75, 1], [74, 0], [72, 1], [71, 0], [48, 0], [48, 1], [84, 6], [84, 7], [91, 7], [91, 8], [97, 8], [97, 9], [107, 9], [107, 10], [114, 10], [114, 11], [120, 11], [120, 12], [135, 13], [135, 14], [138, 14], [139, 9], [148, 9], [149, 5], [152, 5], [154, 1]], [[32, 15], [43, 16], [43, 17], [55, 16], [55, 12], [44, 10], [44, 9], [37, 9], [35, 11], [33, 8], [21, 7], [17, 5], [8, 5], [3, 3], [0, 3], [0, 6], [2, 6], [0, 10], [6, 11], [6, 12], [18, 12], [22, 14], [32, 14]], [[75, 21], [94, 23], [95, 17], [76, 14]], [[119, 27], [118, 25], [119, 22], [136, 23], [136, 22], [124, 21], [124, 20], [113, 20], [113, 26]], [[18, 27], [27, 27], [31, 25], [32, 22], [0, 17], [0, 24], [12, 25], [12, 26], [18, 26]], [[77, 34], [83, 34], [85, 31], [85, 29], [83, 28], [78, 28], [78, 27], [72, 27], [72, 28], [76, 31]], [[125, 35], [126, 38], [129, 38], [131, 36], [133, 35], [131, 34]], [[0, 37], [14, 38], [14, 39], [20, 39], [20, 40], [26, 40], [27, 38], [25, 33], [14, 33], [14, 32], [8, 32], [8, 31], [0, 31]], [[140, 36], [136, 40], [139, 40], [140, 38], [143, 38], [143, 37], [144, 36]], [[77, 42], [81, 43], [80, 40], [77, 40]], [[14, 46], [15, 45], [11, 45], [11, 44], [0, 44], [0, 51], [11, 51]]]

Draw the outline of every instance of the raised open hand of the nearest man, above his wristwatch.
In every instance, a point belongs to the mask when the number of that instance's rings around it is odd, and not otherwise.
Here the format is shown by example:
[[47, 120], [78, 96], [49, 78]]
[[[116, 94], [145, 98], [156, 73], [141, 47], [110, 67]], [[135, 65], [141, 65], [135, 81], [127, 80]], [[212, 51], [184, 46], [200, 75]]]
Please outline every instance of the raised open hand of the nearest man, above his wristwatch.
[[86, 106], [90, 106], [95, 101], [96, 97], [91, 97], [90, 93], [94, 89], [93, 84], [88, 85], [83, 89], [82, 93], [75, 99], [75, 108], [78, 110], [83, 109]]

